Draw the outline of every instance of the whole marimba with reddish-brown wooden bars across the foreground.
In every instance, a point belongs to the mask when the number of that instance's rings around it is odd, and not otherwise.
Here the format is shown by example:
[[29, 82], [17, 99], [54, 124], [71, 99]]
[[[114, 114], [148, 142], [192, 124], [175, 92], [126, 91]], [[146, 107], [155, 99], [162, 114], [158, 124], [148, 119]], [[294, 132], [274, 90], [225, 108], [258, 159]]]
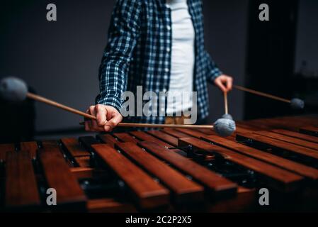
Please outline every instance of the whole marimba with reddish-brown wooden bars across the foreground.
[[237, 126], [229, 138], [166, 128], [2, 144], [0, 210], [318, 211], [318, 117]]

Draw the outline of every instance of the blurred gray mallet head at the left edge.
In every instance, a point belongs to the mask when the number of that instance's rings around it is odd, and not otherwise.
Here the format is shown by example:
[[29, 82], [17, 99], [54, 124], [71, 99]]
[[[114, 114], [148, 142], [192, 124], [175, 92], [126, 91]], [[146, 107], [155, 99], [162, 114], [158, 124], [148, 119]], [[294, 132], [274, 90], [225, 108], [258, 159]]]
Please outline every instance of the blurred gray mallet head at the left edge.
[[28, 87], [22, 79], [6, 77], [0, 82], [0, 96], [8, 101], [23, 101], [28, 93]]

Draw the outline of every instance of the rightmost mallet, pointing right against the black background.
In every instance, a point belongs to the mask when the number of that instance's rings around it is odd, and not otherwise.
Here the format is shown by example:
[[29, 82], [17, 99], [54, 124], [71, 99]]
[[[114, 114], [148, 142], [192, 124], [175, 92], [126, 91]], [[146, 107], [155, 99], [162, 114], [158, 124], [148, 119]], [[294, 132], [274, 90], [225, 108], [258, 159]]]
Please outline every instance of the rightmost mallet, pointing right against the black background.
[[304, 109], [305, 107], [305, 102], [302, 101], [302, 99], [297, 99], [297, 98], [294, 98], [294, 99], [283, 99], [281, 97], [278, 97], [278, 96], [275, 96], [275, 95], [272, 95], [272, 94], [266, 94], [264, 92], [259, 92], [259, 91], [256, 91], [256, 90], [253, 90], [253, 89], [249, 89], [249, 88], [246, 88], [246, 87], [242, 87], [242, 86], [238, 86], [238, 85], [233, 85], [234, 88], [238, 89], [238, 90], [241, 90], [243, 92], [249, 92], [251, 94], [256, 94], [256, 95], [259, 95], [259, 96], [263, 96], [263, 97], [266, 97], [266, 98], [269, 98], [269, 99], [275, 99], [275, 100], [278, 100], [278, 101], [283, 101], [285, 103], [288, 103], [290, 104], [290, 107], [292, 109]]

